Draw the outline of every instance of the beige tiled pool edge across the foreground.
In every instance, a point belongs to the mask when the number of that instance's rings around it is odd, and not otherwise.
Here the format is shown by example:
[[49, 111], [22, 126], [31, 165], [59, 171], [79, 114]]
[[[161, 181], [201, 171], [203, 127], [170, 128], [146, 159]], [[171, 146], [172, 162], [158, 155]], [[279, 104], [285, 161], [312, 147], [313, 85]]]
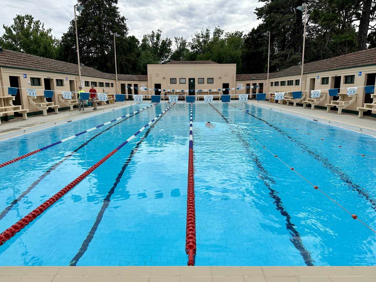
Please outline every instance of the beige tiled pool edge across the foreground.
[[1, 282], [375, 282], [376, 267], [0, 267]]

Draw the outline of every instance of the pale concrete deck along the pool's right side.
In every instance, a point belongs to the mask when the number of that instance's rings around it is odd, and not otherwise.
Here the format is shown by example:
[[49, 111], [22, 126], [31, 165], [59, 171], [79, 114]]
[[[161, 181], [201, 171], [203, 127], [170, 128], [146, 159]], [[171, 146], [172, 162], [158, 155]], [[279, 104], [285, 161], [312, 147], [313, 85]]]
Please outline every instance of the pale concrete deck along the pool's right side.
[[[352, 130], [358, 133], [364, 133], [376, 137], [376, 119], [373, 118], [358, 118], [356, 115], [342, 114], [338, 115], [335, 112], [329, 112], [316, 109], [304, 109], [302, 107], [293, 107], [291, 105], [279, 105], [276, 103], [269, 103], [265, 101], [259, 101], [258, 103], [253, 100], [248, 100], [249, 105], [259, 106], [261, 108], [270, 109], [272, 111], [283, 112], [284, 114], [290, 114], [297, 117], [306, 118], [312, 121], [318, 121], [320, 123], [341, 127], [343, 129]], [[308, 111], [308, 112], [307, 112]], [[341, 119], [343, 121], [341, 121]], [[345, 121], [346, 120], [346, 121]], [[359, 124], [362, 121], [367, 121], [368, 126]]]

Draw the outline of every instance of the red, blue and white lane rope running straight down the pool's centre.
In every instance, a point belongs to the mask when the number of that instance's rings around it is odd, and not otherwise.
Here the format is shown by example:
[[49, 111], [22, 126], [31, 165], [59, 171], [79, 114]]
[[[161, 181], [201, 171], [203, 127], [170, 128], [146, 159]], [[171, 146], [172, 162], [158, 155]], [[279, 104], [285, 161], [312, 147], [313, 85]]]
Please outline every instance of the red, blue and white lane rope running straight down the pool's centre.
[[188, 156], [188, 194], [187, 194], [187, 225], [185, 237], [185, 252], [188, 255], [188, 265], [194, 265], [196, 255], [196, 210], [194, 206], [194, 177], [193, 177], [193, 103], [191, 103], [190, 141]]

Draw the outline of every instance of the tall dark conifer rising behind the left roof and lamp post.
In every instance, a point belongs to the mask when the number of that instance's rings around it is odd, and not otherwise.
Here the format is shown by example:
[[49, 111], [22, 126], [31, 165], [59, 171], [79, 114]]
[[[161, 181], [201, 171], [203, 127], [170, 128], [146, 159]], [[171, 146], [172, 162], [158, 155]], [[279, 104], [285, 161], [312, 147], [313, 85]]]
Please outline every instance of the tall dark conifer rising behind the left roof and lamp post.
[[[108, 63], [114, 60], [113, 34], [117, 32], [125, 40], [128, 33], [126, 18], [120, 15], [117, 3], [118, 0], [80, 0], [85, 7], [77, 15], [80, 62], [103, 72], [115, 72], [112, 64]], [[120, 44], [117, 49], [119, 54], [123, 52], [122, 46]], [[67, 33], [61, 38], [59, 59], [77, 64], [76, 48], [76, 31], [72, 20]]]

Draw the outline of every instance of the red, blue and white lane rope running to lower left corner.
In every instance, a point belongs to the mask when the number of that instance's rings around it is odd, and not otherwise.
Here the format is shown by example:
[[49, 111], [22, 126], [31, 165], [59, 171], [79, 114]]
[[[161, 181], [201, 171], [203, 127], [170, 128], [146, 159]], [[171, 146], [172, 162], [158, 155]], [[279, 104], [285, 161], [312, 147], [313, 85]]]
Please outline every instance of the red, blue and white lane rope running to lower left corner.
[[69, 183], [67, 186], [65, 186], [62, 190], [60, 190], [58, 193], [53, 195], [50, 199], [39, 205], [36, 209], [34, 209], [32, 212], [30, 212], [28, 215], [21, 218], [19, 221], [17, 221], [15, 224], [13, 224], [11, 227], [6, 229], [0, 234], [0, 246], [3, 245], [6, 241], [11, 239], [17, 232], [20, 232], [21, 229], [23, 229], [27, 224], [35, 220], [39, 215], [41, 215], [45, 210], [47, 210], [50, 206], [52, 206], [54, 203], [56, 203], [61, 197], [63, 197], [65, 194], [67, 194], [74, 186], [76, 186], [78, 183], [80, 183], [83, 179], [85, 179], [86, 176], [88, 176], [90, 173], [92, 173], [94, 170], [96, 170], [101, 164], [103, 164], [105, 161], [107, 161], [112, 155], [114, 155], [118, 150], [123, 148], [127, 143], [129, 143], [133, 138], [135, 138], [139, 133], [143, 132], [146, 127], [150, 126], [154, 123], [159, 117], [161, 117], [165, 112], [167, 112], [173, 105], [176, 103], [173, 103], [171, 106], [169, 106], [167, 109], [165, 109], [161, 114], [157, 115], [153, 120], [149, 121], [145, 126], [141, 127], [135, 134], [130, 136], [126, 141], [121, 143], [118, 147], [116, 147], [114, 150], [112, 150], [110, 153], [108, 153], [104, 158], [102, 158], [100, 161], [98, 161], [96, 164], [94, 164], [92, 167], [90, 167], [88, 170], [86, 170], [84, 173], [82, 173], [79, 177], [74, 179], [71, 183]]

